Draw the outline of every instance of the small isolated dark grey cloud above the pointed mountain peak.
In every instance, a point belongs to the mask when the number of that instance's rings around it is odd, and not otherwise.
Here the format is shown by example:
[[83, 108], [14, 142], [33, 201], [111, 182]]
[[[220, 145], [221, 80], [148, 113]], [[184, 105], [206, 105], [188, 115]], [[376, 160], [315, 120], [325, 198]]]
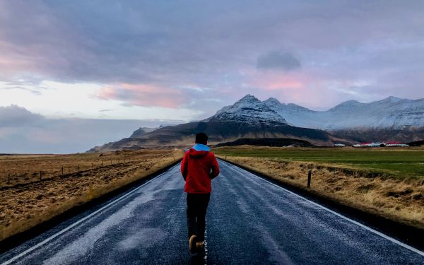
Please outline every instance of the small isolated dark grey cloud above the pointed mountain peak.
[[300, 68], [300, 60], [289, 52], [269, 52], [258, 57], [257, 69], [283, 69], [290, 71]]

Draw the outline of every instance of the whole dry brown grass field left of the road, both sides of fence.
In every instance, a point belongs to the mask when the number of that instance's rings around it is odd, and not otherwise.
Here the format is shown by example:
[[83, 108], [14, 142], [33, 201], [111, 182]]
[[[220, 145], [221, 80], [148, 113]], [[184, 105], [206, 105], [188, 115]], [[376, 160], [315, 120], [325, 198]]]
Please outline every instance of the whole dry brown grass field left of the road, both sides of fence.
[[[146, 177], [171, 165], [183, 154], [181, 150], [146, 150], [2, 155], [0, 241]], [[40, 171], [43, 172], [41, 181]], [[13, 176], [9, 184], [8, 174]]]

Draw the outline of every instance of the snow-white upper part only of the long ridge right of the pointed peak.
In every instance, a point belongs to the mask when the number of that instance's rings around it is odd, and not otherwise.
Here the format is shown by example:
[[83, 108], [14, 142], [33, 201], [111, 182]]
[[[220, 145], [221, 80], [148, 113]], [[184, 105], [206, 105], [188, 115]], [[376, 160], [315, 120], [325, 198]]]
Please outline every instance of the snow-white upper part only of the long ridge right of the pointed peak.
[[371, 103], [343, 102], [331, 110], [318, 112], [295, 104], [285, 105], [275, 98], [264, 103], [293, 126], [324, 129], [403, 129], [424, 126], [424, 99], [389, 97]]

